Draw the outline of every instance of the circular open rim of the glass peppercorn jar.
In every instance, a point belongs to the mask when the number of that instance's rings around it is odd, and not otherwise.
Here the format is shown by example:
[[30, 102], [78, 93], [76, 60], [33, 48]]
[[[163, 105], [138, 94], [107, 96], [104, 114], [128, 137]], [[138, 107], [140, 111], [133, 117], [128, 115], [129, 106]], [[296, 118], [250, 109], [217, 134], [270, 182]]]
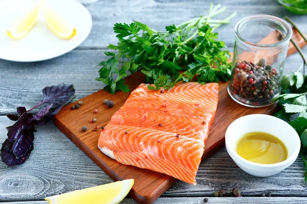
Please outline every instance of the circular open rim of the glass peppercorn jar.
[[[284, 36], [284, 38], [282, 40], [280, 40], [279, 42], [276, 42], [276, 43], [272, 43], [272, 44], [258, 44], [258, 43], [254, 43], [254, 42], [250, 42], [248, 40], [246, 40], [241, 34], [240, 34], [240, 31], [239, 31], [239, 28], [240, 28], [240, 25], [250, 21], [250, 20], [255, 20], [255, 19], [262, 19], [262, 20], [267, 20], [267, 21], [270, 21], [270, 22], [274, 22], [275, 24], [278, 24], [278, 25], [281, 25], [284, 30], [286, 30], [286, 36]], [[279, 46], [283, 46], [284, 44], [286, 43], [289, 43], [290, 39], [292, 38], [292, 28], [290, 26], [290, 24], [288, 22], [286, 22], [285, 20], [279, 18], [279, 17], [276, 17], [276, 16], [272, 16], [272, 15], [264, 15], [264, 14], [261, 14], [261, 15], [252, 15], [252, 16], [247, 16], [245, 18], [242, 18], [241, 20], [239, 20], [235, 27], [234, 27], [234, 32], [235, 32], [235, 35], [236, 37], [244, 42], [244, 43], [247, 43], [251, 46], [254, 46], [254, 47], [257, 47], [257, 48], [276, 48], [276, 47], [279, 47]]]

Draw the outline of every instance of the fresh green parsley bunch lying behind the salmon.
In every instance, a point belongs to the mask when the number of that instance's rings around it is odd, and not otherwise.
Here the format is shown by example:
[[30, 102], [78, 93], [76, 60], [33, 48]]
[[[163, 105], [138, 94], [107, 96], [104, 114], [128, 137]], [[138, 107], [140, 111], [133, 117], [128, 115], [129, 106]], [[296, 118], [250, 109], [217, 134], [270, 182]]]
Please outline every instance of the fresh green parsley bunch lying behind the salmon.
[[231, 66], [227, 62], [229, 52], [223, 50], [225, 43], [218, 41], [213, 30], [236, 15], [224, 20], [211, 19], [226, 8], [210, 5], [209, 14], [186, 21], [178, 26], [169, 25], [165, 32], [155, 31], [146, 24], [134, 21], [131, 24], [116, 23], [118, 45], [108, 48], [117, 53], [105, 52], [107, 61], [100, 63], [100, 77], [96, 78], [111, 93], [122, 90], [128, 92], [124, 77], [127, 72], [141, 69], [146, 75], [146, 83], [154, 84], [149, 89], [168, 89], [176, 82], [189, 82], [194, 77], [200, 83], [227, 81]]

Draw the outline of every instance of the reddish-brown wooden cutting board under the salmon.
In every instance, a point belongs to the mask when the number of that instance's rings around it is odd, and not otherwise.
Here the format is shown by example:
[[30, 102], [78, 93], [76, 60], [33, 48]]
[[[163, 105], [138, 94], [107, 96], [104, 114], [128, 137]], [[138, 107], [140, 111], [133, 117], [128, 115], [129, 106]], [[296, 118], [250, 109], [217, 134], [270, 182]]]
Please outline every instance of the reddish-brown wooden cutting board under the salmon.
[[[297, 38], [301, 47], [305, 45], [301, 37], [294, 37]], [[289, 45], [289, 51], [288, 55], [294, 53], [293, 45]], [[133, 90], [145, 81], [145, 77], [141, 72], [136, 72], [125, 80], [129, 88]], [[233, 120], [249, 114], [272, 114], [277, 109], [276, 106], [248, 108], [237, 104], [227, 93], [227, 83], [220, 83], [218, 95], [217, 111], [205, 145], [203, 159], [224, 146], [226, 129]], [[112, 95], [100, 90], [82, 98], [83, 105], [77, 110], [71, 110], [71, 106], [77, 104], [77, 101], [63, 107], [55, 116], [53, 122], [60, 131], [70, 138], [114, 181], [134, 179], [135, 184], [130, 191], [130, 196], [133, 199], [138, 203], [151, 203], [176, 183], [177, 179], [147, 169], [122, 165], [105, 156], [97, 146], [101, 126], [105, 126], [111, 120], [111, 116], [125, 103], [128, 96], [129, 93], [125, 94], [122, 91]], [[113, 108], [109, 109], [103, 104], [103, 99], [105, 98], [114, 101]], [[97, 114], [94, 113], [94, 109], [98, 110]], [[87, 121], [94, 117], [97, 122], [89, 123]], [[87, 126], [88, 130], [86, 132], [81, 131], [81, 126], [83, 125]], [[92, 130], [94, 126], [98, 127], [97, 132]]]

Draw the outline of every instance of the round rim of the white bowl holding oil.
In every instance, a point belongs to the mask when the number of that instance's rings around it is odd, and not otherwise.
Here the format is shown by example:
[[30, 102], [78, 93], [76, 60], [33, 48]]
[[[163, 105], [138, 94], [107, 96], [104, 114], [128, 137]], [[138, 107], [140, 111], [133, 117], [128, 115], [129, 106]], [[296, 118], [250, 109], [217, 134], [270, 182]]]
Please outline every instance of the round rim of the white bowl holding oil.
[[[279, 121], [281, 121], [281, 122], [283, 122], [284, 123], [284, 125], [286, 125], [286, 126], [290, 126], [291, 127], [291, 129], [293, 129], [293, 131], [294, 131], [294, 133], [295, 133], [295, 137], [294, 137], [294, 143], [296, 143], [295, 145], [296, 145], [296, 147], [294, 148], [294, 151], [292, 152], [292, 154], [291, 155], [289, 155], [289, 151], [288, 151], [288, 158], [286, 159], [286, 160], [284, 160], [284, 161], [282, 161], [282, 162], [279, 162], [279, 163], [275, 163], [275, 164], [259, 164], [259, 163], [255, 163], [255, 162], [251, 162], [251, 161], [248, 161], [248, 160], [246, 160], [246, 159], [244, 159], [243, 157], [241, 157], [241, 156], [239, 156], [238, 154], [237, 154], [237, 152], [233, 149], [233, 148], [230, 148], [230, 146], [228, 145], [228, 143], [227, 143], [227, 138], [229, 138], [230, 136], [228, 136], [227, 137], [227, 135], [229, 135], [229, 127], [234, 123], [234, 122], [236, 122], [238, 119], [240, 119], [240, 118], [246, 118], [246, 117], [265, 117], [265, 118], [270, 118], [270, 119], [273, 119], [273, 120], [279, 120]], [[282, 126], [282, 127], [280, 127], [280, 126], [278, 126], [278, 128], [283, 128], [284, 126]], [[275, 136], [275, 137], [277, 137], [278, 139], [280, 139], [278, 136]], [[228, 127], [227, 127], [227, 130], [226, 130], [226, 133], [225, 133], [225, 146], [226, 146], [226, 149], [227, 149], [227, 151], [228, 151], [228, 154], [229, 153], [231, 153], [232, 155], [230, 155], [230, 157], [232, 158], [232, 157], [235, 157], [235, 159], [237, 159], [237, 160], [240, 160], [240, 161], [242, 161], [242, 162], [244, 162], [246, 165], [249, 165], [249, 166], [252, 166], [252, 167], [260, 167], [260, 168], [265, 168], [265, 169], [267, 169], [267, 168], [276, 168], [276, 167], [282, 167], [283, 168], [283, 166], [286, 166], [286, 165], [288, 165], [289, 163], [293, 163], [295, 160], [296, 160], [296, 158], [297, 158], [297, 156], [298, 156], [298, 154], [299, 154], [299, 150], [300, 150], [300, 146], [301, 146], [301, 141], [300, 141], [300, 138], [299, 138], [299, 136], [298, 136], [298, 134], [297, 134], [297, 132], [294, 130], [294, 128], [290, 125], [290, 124], [288, 124], [286, 121], [284, 121], [284, 120], [281, 120], [281, 119], [279, 119], [279, 118], [277, 118], [277, 117], [274, 117], [274, 116], [271, 116], [271, 115], [266, 115], [266, 114], [250, 114], [250, 115], [245, 115], [245, 116], [242, 116], [242, 117], [239, 117], [239, 118], [237, 118], [236, 120], [234, 120]], [[235, 160], [234, 160], [235, 161]], [[240, 165], [242, 165], [242, 164], [240, 164]], [[291, 164], [290, 164], [291, 165]], [[247, 166], [245, 166], [245, 165], [243, 165], [245, 168], [248, 168], [248, 169], [251, 169], [251, 168], [249, 168], [249, 167], [247, 167]]]

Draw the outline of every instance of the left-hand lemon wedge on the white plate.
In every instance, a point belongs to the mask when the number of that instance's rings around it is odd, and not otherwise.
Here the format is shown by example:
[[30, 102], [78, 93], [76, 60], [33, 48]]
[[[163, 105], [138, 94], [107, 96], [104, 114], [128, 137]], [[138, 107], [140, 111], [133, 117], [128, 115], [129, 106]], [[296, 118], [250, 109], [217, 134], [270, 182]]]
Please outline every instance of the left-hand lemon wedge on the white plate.
[[34, 27], [39, 17], [39, 4], [26, 16], [19, 18], [7, 32], [7, 35], [15, 40], [25, 37]]

